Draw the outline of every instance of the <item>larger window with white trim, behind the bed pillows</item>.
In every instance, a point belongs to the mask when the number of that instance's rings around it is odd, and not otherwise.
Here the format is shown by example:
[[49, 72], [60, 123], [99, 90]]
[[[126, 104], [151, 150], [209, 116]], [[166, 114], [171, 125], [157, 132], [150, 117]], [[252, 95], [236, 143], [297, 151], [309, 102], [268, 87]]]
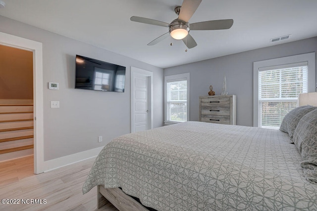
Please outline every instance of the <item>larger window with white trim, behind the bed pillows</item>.
[[314, 84], [315, 53], [254, 62], [254, 126], [278, 129], [298, 94], [314, 91]]

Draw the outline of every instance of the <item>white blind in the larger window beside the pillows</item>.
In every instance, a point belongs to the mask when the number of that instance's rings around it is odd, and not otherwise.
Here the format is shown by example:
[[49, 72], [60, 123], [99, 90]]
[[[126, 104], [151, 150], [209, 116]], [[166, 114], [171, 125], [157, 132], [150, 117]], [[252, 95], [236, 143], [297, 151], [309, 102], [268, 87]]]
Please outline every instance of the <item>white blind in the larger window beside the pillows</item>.
[[259, 68], [259, 127], [279, 128], [308, 89], [308, 62]]

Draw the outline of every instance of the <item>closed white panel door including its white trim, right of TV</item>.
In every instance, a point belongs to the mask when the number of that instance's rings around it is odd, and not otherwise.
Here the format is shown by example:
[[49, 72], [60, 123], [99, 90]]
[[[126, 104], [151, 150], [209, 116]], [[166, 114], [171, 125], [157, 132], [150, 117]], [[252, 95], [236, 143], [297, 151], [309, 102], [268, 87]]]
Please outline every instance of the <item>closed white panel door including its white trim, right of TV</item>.
[[131, 132], [152, 128], [152, 74], [131, 67]]

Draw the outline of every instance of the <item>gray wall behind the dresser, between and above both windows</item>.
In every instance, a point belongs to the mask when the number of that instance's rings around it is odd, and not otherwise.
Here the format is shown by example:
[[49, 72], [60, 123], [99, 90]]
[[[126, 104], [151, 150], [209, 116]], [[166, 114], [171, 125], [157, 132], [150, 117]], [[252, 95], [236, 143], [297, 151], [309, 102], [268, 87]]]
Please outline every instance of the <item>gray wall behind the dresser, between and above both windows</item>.
[[191, 121], [199, 120], [199, 96], [208, 95], [210, 85], [219, 95], [226, 76], [228, 94], [237, 95], [237, 125], [253, 126], [253, 62], [315, 51], [317, 37], [166, 68], [164, 76], [190, 73]]

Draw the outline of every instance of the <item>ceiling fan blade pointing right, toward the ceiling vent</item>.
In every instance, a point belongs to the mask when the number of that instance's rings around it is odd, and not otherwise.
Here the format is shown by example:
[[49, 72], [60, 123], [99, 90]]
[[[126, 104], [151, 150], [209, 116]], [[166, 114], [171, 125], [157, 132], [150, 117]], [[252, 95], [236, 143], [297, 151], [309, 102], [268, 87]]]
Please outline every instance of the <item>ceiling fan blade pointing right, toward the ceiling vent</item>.
[[190, 24], [190, 30], [219, 30], [230, 29], [233, 25], [232, 19], [204, 21]]

